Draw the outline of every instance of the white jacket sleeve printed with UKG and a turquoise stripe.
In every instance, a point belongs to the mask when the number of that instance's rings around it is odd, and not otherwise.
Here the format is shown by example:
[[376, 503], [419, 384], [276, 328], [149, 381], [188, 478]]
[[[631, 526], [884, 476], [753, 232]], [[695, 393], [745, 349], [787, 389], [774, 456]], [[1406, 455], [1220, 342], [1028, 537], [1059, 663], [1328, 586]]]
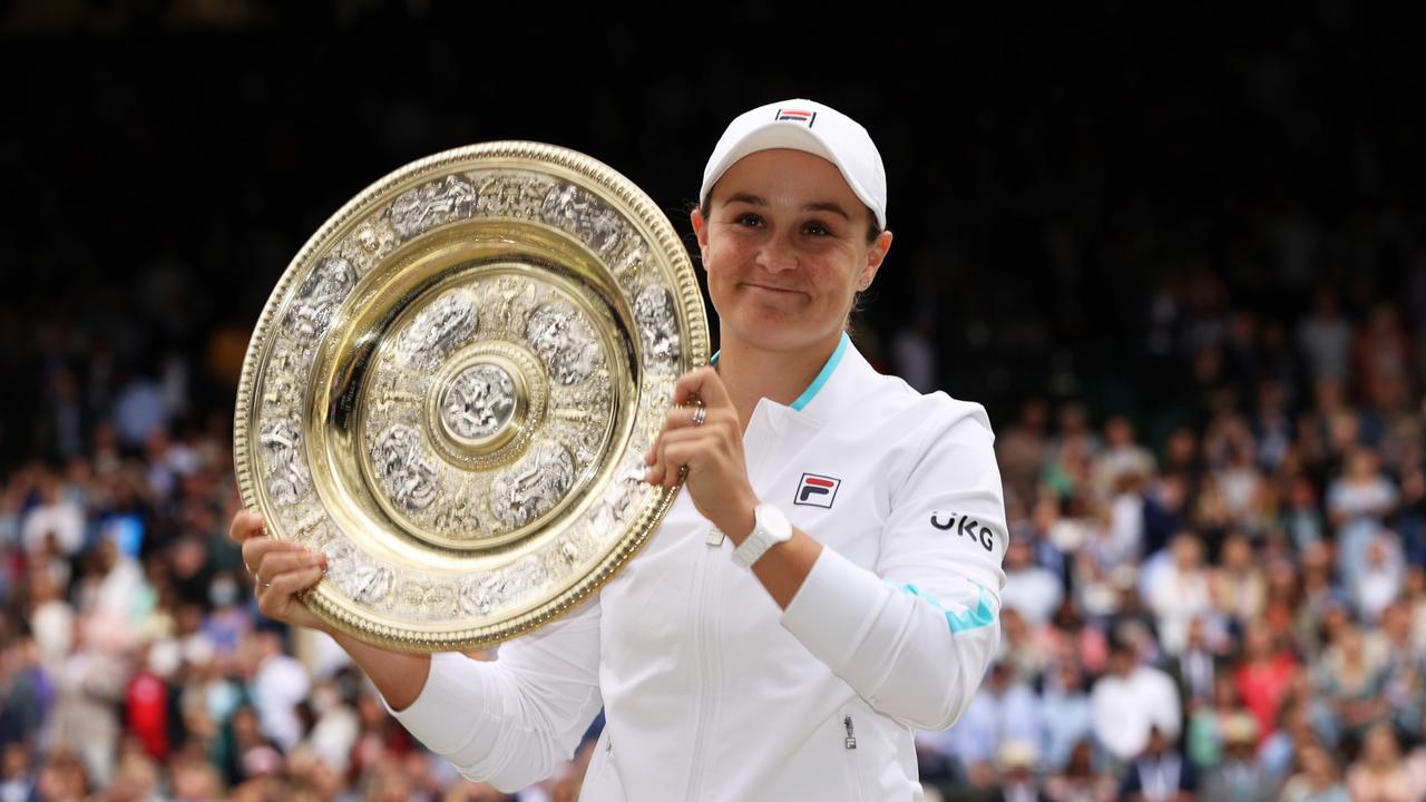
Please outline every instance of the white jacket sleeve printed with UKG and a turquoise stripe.
[[953, 404], [894, 444], [906, 458], [887, 475], [876, 569], [824, 545], [781, 615], [873, 709], [915, 729], [955, 724], [1000, 645], [1007, 529], [994, 435], [981, 405]]

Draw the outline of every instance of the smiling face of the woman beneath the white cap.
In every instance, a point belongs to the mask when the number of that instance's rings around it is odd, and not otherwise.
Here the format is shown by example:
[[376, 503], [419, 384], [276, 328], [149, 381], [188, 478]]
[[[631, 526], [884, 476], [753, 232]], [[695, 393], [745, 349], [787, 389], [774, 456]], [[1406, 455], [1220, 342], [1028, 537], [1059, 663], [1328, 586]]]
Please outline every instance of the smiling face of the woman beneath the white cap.
[[723, 337], [774, 351], [841, 335], [891, 234], [867, 243], [871, 211], [837, 167], [800, 150], [763, 150], [729, 167], [693, 211]]

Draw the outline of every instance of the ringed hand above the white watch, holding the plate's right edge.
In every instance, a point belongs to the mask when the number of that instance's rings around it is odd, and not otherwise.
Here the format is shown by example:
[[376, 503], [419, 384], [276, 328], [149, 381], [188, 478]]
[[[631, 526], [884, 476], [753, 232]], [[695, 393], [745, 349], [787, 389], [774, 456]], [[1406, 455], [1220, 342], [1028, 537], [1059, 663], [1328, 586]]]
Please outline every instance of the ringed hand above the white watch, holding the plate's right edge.
[[[703, 404], [702, 424], [697, 401]], [[643, 457], [650, 465], [645, 481], [674, 487], [680, 468], [687, 467], [683, 482], [699, 514], [724, 534], [750, 532], [757, 494], [747, 479], [743, 424], [723, 380], [712, 367], [686, 372], [673, 385], [673, 404], [677, 408]]]

